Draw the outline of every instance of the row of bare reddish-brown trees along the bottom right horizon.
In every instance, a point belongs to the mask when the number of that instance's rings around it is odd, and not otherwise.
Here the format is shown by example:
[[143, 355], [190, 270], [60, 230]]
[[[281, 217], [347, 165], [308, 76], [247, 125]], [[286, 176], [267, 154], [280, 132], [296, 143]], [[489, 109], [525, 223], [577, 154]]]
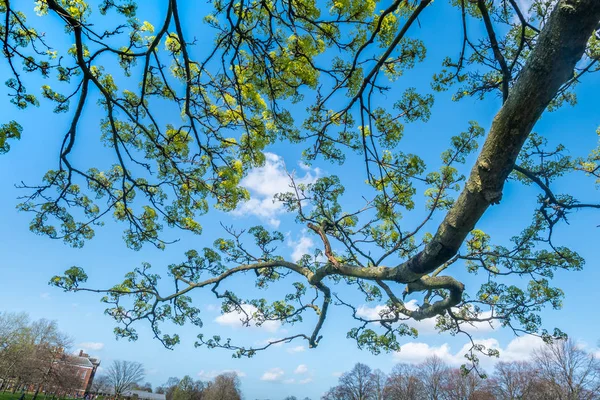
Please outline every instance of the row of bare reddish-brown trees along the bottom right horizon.
[[597, 400], [600, 362], [572, 340], [498, 362], [491, 376], [449, 367], [437, 356], [397, 364], [389, 375], [358, 363], [322, 400]]

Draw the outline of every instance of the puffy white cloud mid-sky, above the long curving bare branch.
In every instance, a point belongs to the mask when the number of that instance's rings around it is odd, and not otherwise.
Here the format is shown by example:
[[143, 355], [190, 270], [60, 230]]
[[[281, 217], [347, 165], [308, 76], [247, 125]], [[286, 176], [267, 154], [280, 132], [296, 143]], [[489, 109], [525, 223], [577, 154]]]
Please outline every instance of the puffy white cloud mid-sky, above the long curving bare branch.
[[[312, 183], [320, 175], [318, 168], [301, 165], [303, 176], [294, 176], [296, 183]], [[293, 173], [292, 173], [293, 174]], [[234, 215], [255, 215], [269, 225], [277, 228], [279, 216], [284, 212], [282, 204], [273, 202], [277, 193], [289, 192], [290, 177], [283, 158], [273, 153], [265, 153], [265, 165], [252, 169], [240, 182], [250, 192], [250, 200], [242, 203], [233, 211]]]

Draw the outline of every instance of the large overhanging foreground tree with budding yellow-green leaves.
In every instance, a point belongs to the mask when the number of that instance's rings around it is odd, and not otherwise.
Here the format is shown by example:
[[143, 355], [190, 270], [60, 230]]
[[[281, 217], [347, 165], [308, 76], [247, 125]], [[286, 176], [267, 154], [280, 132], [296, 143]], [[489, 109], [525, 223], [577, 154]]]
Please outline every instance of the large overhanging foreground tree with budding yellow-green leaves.
[[[355, 176], [366, 181], [365, 202], [345, 196], [335, 175], [310, 183], [292, 179], [291, 190], [275, 200], [320, 241], [300, 260], [277, 248], [284, 240], [280, 232], [227, 226], [212, 246], [192, 249], [167, 267], [170, 293], [162, 285], [159, 291], [159, 274], [150, 264], [110, 288], [86, 286], [81, 267], [55, 276], [52, 285], [103, 293], [118, 336], [135, 339], [135, 327], [149, 321], [167, 347], [179, 337], [163, 333], [162, 322], [202, 326], [189, 295], [203, 288], [246, 324], [294, 323], [315, 312], [308, 331], [259, 348], [221, 336], [198, 338], [198, 345], [237, 356], [291, 340], [316, 347], [332, 304], [356, 310], [332, 295], [331, 287], [344, 284], [387, 305], [375, 320], [353, 312], [358, 323], [348, 336], [375, 353], [398, 350], [399, 338], [417, 334], [406, 319], [437, 318], [437, 327], [450, 333], [497, 321], [546, 339], [562, 336], [543, 327], [539, 312], [561, 305], [554, 271], [579, 270], [584, 260], [556, 243], [554, 233], [571, 212], [600, 205], [554, 190], [562, 176], [583, 174], [597, 182], [600, 150], [573, 157], [561, 145], [549, 147], [532, 129], [544, 110], [575, 103], [574, 86], [598, 69], [597, 1], [535, 1], [531, 10], [512, 0], [453, 1], [462, 46], [434, 76], [436, 96], [459, 85], [455, 100], [496, 94], [502, 106], [487, 134], [475, 121], [465, 124], [464, 132], [448, 138], [441, 161], [429, 166], [426, 157], [404, 152], [401, 140], [410, 124], [426, 122], [432, 112], [434, 95], [405, 89], [402, 81], [425, 58], [416, 25], [437, 7], [431, 0], [392, 1], [383, 12], [372, 0], [215, 0], [203, 16], [214, 44], [198, 54], [193, 35], [182, 27], [182, 3], [165, 2], [164, 20], [154, 28], [138, 18], [141, 2], [105, 0], [97, 13], [85, 0], [38, 1], [44, 23], [62, 25], [70, 35], [67, 48], [38, 34], [42, 22], [27, 19], [21, 2], [0, 5], [10, 101], [21, 109], [36, 106], [39, 100], [27, 88], [37, 74], [52, 79], [42, 86], [42, 97], [70, 116], [58, 166], [42, 183], [23, 185], [27, 194], [19, 207], [32, 213], [31, 229], [78, 247], [112, 215], [125, 225], [128, 246], [164, 248], [170, 240], [163, 225], [200, 234], [203, 214], [232, 211], [247, 201], [242, 179], [264, 165], [277, 141], [304, 146], [305, 163], [360, 166]], [[83, 110], [95, 102], [98, 136], [116, 160], [109, 168], [75, 156]], [[165, 115], [170, 111], [172, 118]], [[0, 151], [8, 152], [21, 134], [16, 120], [2, 125]], [[480, 143], [479, 155], [470, 158]], [[467, 161], [471, 169], [463, 166]], [[476, 229], [490, 206], [500, 203], [507, 179], [540, 192], [532, 222], [510, 240]], [[425, 193], [424, 206], [417, 207], [417, 193]], [[414, 219], [403, 219], [407, 213]], [[419, 222], [411, 226], [414, 220]], [[456, 278], [460, 266], [481, 272], [469, 292]], [[290, 293], [271, 302], [220, 291], [223, 281], [240, 274], [252, 276], [259, 288], [289, 282]], [[407, 307], [407, 296], [419, 307]], [[476, 345], [471, 350], [494, 353]]]

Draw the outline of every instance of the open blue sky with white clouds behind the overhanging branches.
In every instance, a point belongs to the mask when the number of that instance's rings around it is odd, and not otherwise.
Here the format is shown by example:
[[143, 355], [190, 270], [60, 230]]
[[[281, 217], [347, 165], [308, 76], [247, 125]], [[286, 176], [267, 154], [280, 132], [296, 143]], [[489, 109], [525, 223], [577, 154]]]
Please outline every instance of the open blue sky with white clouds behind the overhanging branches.
[[[189, 29], [197, 29], [194, 21], [200, 19], [197, 15], [204, 11], [203, 4], [189, 2], [185, 5], [183, 14], [188, 19]], [[155, 10], [159, 8], [150, 8], [144, 18], [158, 25], [160, 12]], [[414, 85], [429, 91], [429, 79], [439, 70], [443, 57], [456, 55], [459, 50], [459, 27], [455, 24], [459, 15], [443, 1], [436, 2], [428, 12], [420, 21], [420, 28], [412, 31], [425, 40], [428, 46], [427, 60], [403, 77], [398, 82], [399, 87]], [[55, 20], [43, 23], [48, 24], [44, 27], [49, 35], [62, 32]], [[61, 40], [68, 41], [68, 37]], [[4, 75], [7, 68], [5, 62], [0, 63], [0, 72]], [[600, 126], [600, 113], [597, 110], [599, 84], [600, 77], [587, 77], [577, 89], [579, 104], [544, 114], [535, 131], [552, 143], [564, 143], [574, 156], [587, 154], [598, 141], [595, 131]], [[33, 91], [35, 85], [30, 86]], [[487, 129], [500, 106], [500, 100], [494, 97], [488, 97], [485, 101], [467, 99], [454, 103], [450, 101], [450, 96], [450, 92], [436, 96], [428, 123], [406, 127], [403, 145], [408, 150], [405, 151], [419, 152], [425, 159], [439, 160], [439, 153], [451, 135], [464, 130], [469, 120], [477, 120]], [[21, 181], [39, 182], [45, 171], [56, 166], [60, 141], [69, 120], [65, 115], [52, 114], [51, 108], [44, 103], [37, 109], [17, 111], [8, 103], [3, 86], [0, 87], [0, 101], [0, 122], [16, 118], [24, 128], [23, 138], [12, 143], [8, 154], [0, 156], [0, 311], [25, 311], [34, 319], [57, 320], [62, 330], [72, 335], [74, 349], [85, 348], [90, 354], [100, 357], [104, 365], [114, 359], [142, 362], [146, 367], [147, 381], [154, 386], [170, 376], [187, 374], [208, 379], [222, 371], [238, 371], [247, 399], [277, 399], [286, 395], [317, 399], [335, 384], [339, 372], [349, 370], [358, 361], [385, 372], [396, 362], [419, 362], [431, 354], [438, 354], [454, 365], [462, 362], [461, 348], [466, 339], [438, 335], [427, 322], [419, 325], [421, 335], [418, 339], [406, 339], [407, 343], [400, 354], [373, 356], [360, 351], [353, 341], [345, 338], [346, 332], [352, 327], [351, 318], [347, 310], [339, 307], [332, 310], [324, 326], [324, 339], [317, 349], [309, 350], [303, 343], [291, 343], [258, 354], [252, 359], [232, 359], [226, 351], [194, 348], [194, 338], [198, 333], [194, 327], [181, 328], [182, 343], [173, 351], [162, 348], [159, 342], [152, 339], [146, 327], [139, 328], [140, 338], [137, 342], [116, 341], [112, 333], [114, 325], [110, 318], [103, 315], [104, 308], [99, 296], [63, 293], [47, 285], [49, 278], [72, 265], [78, 265], [90, 276], [90, 284], [107, 287], [143, 261], [164, 271], [166, 265], [181, 260], [184, 251], [210, 244], [217, 235], [220, 236], [220, 221], [240, 227], [259, 223], [277, 226], [286, 234], [282, 254], [293, 257], [294, 254], [310, 250], [317, 245], [317, 241], [301, 226], [294, 224], [293, 216], [282, 213], [270, 201], [270, 196], [285, 185], [285, 170], [295, 169], [296, 176], [306, 181], [326, 174], [340, 175], [347, 186], [348, 203], [361, 193], [365, 177], [357, 177], [357, 174], [363, 171], [352, 168], [351, 162], [343, 168], [318, 162], [310, 168], [303, 167], [298, 163], [300, 148], [276, 144], [269, 148], [266, 166], [253, 171], [245, 181], [253, 196], [251, 202], [233, 215], [216, 212], [203, 218], [201, 222], [205, 230], [201, 237], [167, 232], [173, 235], [172, 238], [181, 240], [168, 246], [165, 251], [146, 246], [134, 252], [127, 249], [121, 239], [123, 226], [108, 220], [104, 228], [97, 230], [92, 241], [82, 249], [73, 249], [60, 241], [36, 236], [28, 230], [30, 216], [18, 213], [15, 209], [17, 197], [23, 193], [14, 186]], [[76, 148], [76, 157], [80, 161], [106, 162], [106, 151], [98, 150], [97, 119], [97, 110], [88, 107], [81, 124], [85, 127], [80, 135], [83, 139]], [[563, 180], [558, 182], [556, 188], [557, 191], [576, 192], [585, 201], [599, 197], [590, 180]], [[492, 207], [478, 227], [494, 237], [510, 238], [530, 220], [536, 194], [534, 187], [509, 182], [502, 203]], [[587, 264], [582, 272], [557, 274], [556, 282], [566, 295], [564, 308], [543, 314], [546, 327], [560, 326], [576, 340], [587, 343], [590, 349], [600, 339], [598, 311], [593, 297], [600, 279], [600, 265], [595, 257], [599, 224], [600, 216], [597, 213], [582, 211], [571, 215], [570, 225], [561, 227], [559, 242], [580, 252]], [[231, 287], [236, 290], [247, 289], [243, 279], [234, 280]], [[276, 288], [273, 293], [278, 290]], [[340, 289], [340, 293], [345, 295], [349, 292]], [[256, 344], [297, 329], [277, 324], [243, 329], [237, 326], [236, 318], [221, 316], [218, 303], [206, 294], [195, 295], [195, 301], [202, 310], [205, 322], [203, 332], [207, 335], [219, 332], [224, 337]], [[368, 315], [373, 312], [373, 307], [371, 304], [361, 310]], [[473, 334], [504, 350], [502, 357], [505, 359], [526, 357], [527, 352], [536, 345], [531, 338], [515, 339], [512, 333], [503, 330], [480, 327]], [[491, 361], [484, 361], [484, 365], [491, 366]]]

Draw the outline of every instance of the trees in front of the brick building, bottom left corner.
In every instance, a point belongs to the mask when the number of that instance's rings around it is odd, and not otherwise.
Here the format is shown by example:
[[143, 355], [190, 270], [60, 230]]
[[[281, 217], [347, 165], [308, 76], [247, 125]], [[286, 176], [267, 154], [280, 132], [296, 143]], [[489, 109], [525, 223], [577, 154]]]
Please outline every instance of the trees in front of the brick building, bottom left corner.
[[[25, 313], [0, 312], [0, 390], [65, 396], [81, 386], [67, 361], [71, 339], [55, 321], [31, 321]], [[50, 393], [48, 393], [50, 392]]]

